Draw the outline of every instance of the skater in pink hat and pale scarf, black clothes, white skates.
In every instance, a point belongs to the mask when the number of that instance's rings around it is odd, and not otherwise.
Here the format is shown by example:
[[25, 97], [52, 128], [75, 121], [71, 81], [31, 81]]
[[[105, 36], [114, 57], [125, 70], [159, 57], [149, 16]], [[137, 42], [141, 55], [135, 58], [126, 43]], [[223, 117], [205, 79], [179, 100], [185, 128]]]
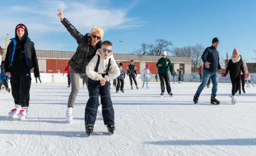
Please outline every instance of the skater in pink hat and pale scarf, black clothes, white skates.
[[237, 49], [234, 49], [233, 56], [229, 60], [229, 63], [227, 64], [227, 68], [225, 72], [222, 72], [222, 77], [227, 76], [227, 73], [229, 72], [230, 80], [232, 83], [232, 104], [237, 103], [237, 99], [235, 98], [235, 94], [240, 88], [240, 71], [243, 73], [242, 79], [245, 80], [246, 73], [243, 66], [243, 61], [239, 56], [239, 51]]

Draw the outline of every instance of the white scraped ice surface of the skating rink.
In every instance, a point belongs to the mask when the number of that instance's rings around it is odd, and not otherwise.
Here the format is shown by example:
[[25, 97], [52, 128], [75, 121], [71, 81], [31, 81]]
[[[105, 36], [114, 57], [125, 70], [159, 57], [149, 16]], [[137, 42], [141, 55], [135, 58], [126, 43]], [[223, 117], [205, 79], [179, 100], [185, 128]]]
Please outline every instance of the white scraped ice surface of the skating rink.
[[160, 82], [149, 82], [149, 89], [138, 84], [139, 90], [131, 90], [125, 82], [124, 93], [111, 86], [114, 135], [97, 118], [90, 137], [84, 125], [88, 90], [82, 83], [71, 123], [65, 119], [67, 82], [32, 83], [26, 120], [7, 116], [14, 100], [1, 90], [0, 155], [256, 155], [256, 87], [245, 88], [234, 105], [231, 83], [219, 83], [220, 105], [210, 104], [211, 87], [195, 105], [200, 82], [170, 82], [173, 97], [166, 90], [160, 97]]

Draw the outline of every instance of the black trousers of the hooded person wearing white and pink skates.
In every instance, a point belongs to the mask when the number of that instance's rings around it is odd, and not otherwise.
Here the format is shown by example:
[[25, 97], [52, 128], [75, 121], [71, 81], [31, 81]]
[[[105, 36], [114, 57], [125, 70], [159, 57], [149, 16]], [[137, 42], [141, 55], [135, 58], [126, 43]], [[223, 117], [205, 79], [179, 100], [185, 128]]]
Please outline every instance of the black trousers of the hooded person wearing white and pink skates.
[[11, 76], [12, 97], [14, 103], [21, 107], [29, 107], [29, 90], [31, 86], [31, 72]]

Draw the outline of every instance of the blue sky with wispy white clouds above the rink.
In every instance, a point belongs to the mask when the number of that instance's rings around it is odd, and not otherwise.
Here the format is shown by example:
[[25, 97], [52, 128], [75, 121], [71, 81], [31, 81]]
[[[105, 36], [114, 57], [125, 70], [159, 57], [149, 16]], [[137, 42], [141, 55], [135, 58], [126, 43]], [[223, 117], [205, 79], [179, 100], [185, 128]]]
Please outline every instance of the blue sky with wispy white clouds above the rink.
[[218, 37], [220, 56], [231, 56], [237, 48], [247, 61], [256, 62], [255, 6], [253, 0], [2, 1], [0, 46], [5, 47], [6, 34], [14, 37], [15, 26], [23, 23], [37, 50], [76, 51], [76, 41], [57, 16], [61, 8], [81, 34], [102, 27], [103, 41], [112, 42], [114, 53], [123, 52], [119, 41], [129, 54], [155, 39], [172, 41], [172, 47], [208, 47]]

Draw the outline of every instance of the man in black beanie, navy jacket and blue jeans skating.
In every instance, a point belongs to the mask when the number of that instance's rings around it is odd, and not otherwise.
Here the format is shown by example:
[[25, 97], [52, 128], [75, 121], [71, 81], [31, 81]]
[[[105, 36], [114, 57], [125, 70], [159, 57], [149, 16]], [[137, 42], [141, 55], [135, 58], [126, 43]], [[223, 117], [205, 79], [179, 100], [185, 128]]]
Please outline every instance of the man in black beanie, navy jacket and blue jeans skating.
[[210, 104], [220, 104], [220, 101], [217, 100], [216, 93], [218, 87], [218, 74], [217, 70], [222, 73], [222, 69], [220, 67], [219, 62], [219, 51], [217, 51], [217, 47], [219, 46], [219, 39], [215, 37], [212, 39], [212, 46], [207, 47], [202, 54], [202, 60], [204, 62], [204, 71], [203, 71], [203, 80], [202, 83], [199, 85], [197, 92], [194, 95], [194, 103], [198, 103], [199, 95], [201, 94], [202, 90], [204, 89], [205, 85], [207, 84], [209, 78], [212, 79], [212, 95], [210, 95]]

